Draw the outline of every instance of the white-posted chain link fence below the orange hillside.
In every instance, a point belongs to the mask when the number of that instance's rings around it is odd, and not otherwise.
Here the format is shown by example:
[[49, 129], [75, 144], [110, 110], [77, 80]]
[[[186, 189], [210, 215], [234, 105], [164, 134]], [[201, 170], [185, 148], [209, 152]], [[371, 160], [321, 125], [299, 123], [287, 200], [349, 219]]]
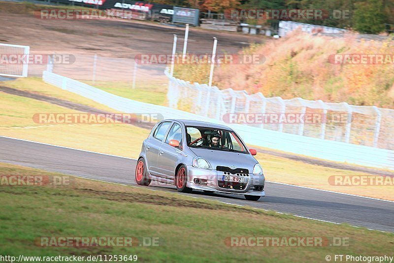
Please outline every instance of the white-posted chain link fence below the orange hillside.
[[[171, 78], [166, 71], [165, 74]], [[209, 87], [176, 79], [169, 83], [169, 107], [224, 120], [229, 113], [315, 114], [316, 123], [246, 123], [246, 125], [301, 136], [394, 150], [394, 110], [347, 103], [325, 103], [301, 98], [265, 98], [262, 93]], [[234, 122], [231, 122], [234, 123]], [[235, 122], [237, 123], [237, 122]], [[240, 123], [240, 122], [238, 122]]]

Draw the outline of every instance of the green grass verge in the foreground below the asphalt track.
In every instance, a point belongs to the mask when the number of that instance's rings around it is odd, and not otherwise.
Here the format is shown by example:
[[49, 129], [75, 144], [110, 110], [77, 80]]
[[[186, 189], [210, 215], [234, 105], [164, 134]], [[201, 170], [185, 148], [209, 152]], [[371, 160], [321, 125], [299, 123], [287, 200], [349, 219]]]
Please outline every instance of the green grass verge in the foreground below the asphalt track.
[[[59, 176], [0, 163], [0, 174]], [[0, 186], [0, 255], [137, 255], [149, 262], [323, 262], [381, 256], [392, 233], [333, 225], [179, 194], [72, 178], [68, 186]], [[155, 247], [39, 247], [37, 237], [158, 237]], [[230, 236], [343, 237], [340, 247], [228, 247]]]

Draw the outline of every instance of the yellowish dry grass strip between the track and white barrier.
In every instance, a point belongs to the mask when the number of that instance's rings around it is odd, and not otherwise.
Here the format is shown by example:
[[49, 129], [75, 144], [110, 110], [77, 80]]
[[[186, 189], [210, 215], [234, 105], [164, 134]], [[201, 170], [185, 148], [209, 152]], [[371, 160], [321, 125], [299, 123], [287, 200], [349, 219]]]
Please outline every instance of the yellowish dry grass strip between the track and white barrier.
[[[114, 112], [79, 95], [43, 83], [38, 78], [6, 81], [3, 86], [27, 90]], [[143, 92], [143, 91], [141, 91]], [[148, 100], [148, 96], [145, 95]], [[0, 135], [82, 150], [137, 158], [149, 130], [126, 124], [37, 124], [34, 113], [77, 113], [64, 107], [30, 98], [1, 93]], [[253, 146], [251, 146], [253, 148]], [[333, 175], [361, 175], [360, 172], [307, 164], [259, 152], [266, 180], [394, 200], [391, 186], [332, 186]]]

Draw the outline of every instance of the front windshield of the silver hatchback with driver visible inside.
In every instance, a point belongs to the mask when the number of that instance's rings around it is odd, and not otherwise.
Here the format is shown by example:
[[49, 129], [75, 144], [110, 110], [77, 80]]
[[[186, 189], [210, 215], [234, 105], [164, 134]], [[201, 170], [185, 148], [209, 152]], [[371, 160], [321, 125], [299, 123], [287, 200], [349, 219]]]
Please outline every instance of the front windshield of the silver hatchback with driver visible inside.
[[247, 153], [235, 132], [210, 127], [186, 127], [187, 145], [192, 148]]

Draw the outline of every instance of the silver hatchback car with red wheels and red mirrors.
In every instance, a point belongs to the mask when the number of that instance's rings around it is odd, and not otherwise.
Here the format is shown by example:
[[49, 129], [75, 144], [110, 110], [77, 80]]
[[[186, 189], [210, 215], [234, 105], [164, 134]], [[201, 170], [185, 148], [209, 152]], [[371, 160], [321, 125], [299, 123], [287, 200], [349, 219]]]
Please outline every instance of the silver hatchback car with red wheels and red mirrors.
[[265, 196], [263, 169], [241, 138], [227, 126], [203, 121], [166, 119], [155, 125], [142, 144], [135, 181], [175, 185], [180, 192], [242, 194], [257, 201]]

